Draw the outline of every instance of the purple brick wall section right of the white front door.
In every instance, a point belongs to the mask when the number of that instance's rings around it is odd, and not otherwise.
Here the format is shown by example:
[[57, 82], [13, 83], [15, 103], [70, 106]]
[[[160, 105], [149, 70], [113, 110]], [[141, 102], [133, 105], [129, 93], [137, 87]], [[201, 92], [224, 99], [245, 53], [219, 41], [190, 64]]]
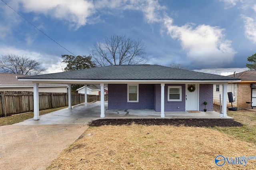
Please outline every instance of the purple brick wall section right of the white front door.
[[199, 111], [204, 111], [204, 101], [207, 101], [207, 111], [213, 111], [213, 85], [200, 84], [199, 87]]

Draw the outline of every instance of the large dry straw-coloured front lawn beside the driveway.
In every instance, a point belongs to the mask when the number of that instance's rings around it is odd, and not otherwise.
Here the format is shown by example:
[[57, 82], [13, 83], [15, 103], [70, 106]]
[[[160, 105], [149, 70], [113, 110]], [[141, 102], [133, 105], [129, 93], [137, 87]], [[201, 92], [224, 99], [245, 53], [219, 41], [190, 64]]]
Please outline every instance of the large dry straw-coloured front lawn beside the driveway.
[[254, 144], [210, 128], [108, 125], [90, 127], [49, 169], [256, 169], [256, 160], [245, 167], [214, 163], [218, 155], [255, 153]]

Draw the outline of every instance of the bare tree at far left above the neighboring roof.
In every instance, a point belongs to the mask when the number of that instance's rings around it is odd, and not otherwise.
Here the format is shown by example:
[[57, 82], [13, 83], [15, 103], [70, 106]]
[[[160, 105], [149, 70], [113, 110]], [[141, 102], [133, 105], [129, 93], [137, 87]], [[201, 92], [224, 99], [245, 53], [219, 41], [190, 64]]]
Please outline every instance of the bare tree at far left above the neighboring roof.
[[46, 68], [42, 67], [41, 63], [35, 59], [14, 54], [2, 55], [0, 58], [0, 68], [4, 73], [23, 75], [38, 75], [40, 72], [46, 71]]

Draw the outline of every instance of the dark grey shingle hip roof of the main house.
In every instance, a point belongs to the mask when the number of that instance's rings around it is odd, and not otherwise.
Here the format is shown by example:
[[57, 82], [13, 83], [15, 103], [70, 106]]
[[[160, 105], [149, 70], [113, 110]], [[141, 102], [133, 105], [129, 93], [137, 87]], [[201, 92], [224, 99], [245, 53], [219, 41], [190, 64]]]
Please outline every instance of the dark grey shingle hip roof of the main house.
[[61, 73], [22, 77], [19, 79], [71, 79], [71, 80], [192, 80], [232, 81], [233, 77], [214, 75], [160, 65], [110, 65]]

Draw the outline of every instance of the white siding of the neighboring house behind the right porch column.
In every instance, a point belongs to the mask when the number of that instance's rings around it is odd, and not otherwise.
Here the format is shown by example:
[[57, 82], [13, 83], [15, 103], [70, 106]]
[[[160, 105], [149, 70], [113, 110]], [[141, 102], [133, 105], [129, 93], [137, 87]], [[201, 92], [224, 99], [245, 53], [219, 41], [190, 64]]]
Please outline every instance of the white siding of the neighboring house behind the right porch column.
[[[229, 83], [227, 87], [228, 92], [232, 92], [234, 102], [233, 107], [237, 106], [236, 98], [237, 98], [237, 83]], [[222, 99], [222, 84], [220, 84], [220, 91], [216, 91], [216, 84], [213, 85], [213, 103], [216, 105], [220, 105], [220, 95]], [[228, 101], [228, 94], [227, 95], [227, 106], [231, 107], [231, 103]]]

